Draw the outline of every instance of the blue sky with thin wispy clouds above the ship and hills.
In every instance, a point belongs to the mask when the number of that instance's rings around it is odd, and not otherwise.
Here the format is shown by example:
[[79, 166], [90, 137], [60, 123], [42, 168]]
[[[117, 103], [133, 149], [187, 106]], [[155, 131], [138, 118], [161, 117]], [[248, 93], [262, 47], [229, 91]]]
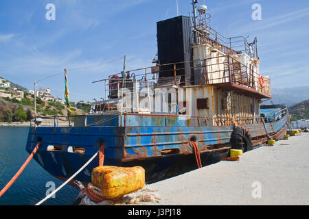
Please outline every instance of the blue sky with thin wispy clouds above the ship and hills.
[[[262, 74], [274, 88], [309, 86], [309, 1], [203, 1], [211, 26], [227, 37], [258, 37]], [[45, 5], [54, 3], [56, 20], [47, 21]], [[192, 12], [179, 0], [179, 14]], [[262, 20], [253, 21], [253, 3]], [[157, 53], [156, 22], [176, 16], [176, 0], [1, 0], [0, 76], [33, 90], [34, 79], [64, 68], [93, 66], [127, 55], [127, 69], [151, 66]], [[68, 72], [70, 100], [104, 96], [106, 78], [122, 70], [123, 60]], [[63, 99], [63, 75], [39, 81]]]

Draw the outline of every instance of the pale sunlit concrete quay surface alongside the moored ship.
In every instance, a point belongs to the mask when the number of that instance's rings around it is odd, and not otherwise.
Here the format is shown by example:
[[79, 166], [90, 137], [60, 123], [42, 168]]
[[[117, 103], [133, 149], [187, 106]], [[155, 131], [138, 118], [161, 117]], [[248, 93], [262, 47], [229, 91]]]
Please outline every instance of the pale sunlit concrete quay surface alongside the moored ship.
[[159, 205], [309, 205], [309, 133], [150, 186]]

